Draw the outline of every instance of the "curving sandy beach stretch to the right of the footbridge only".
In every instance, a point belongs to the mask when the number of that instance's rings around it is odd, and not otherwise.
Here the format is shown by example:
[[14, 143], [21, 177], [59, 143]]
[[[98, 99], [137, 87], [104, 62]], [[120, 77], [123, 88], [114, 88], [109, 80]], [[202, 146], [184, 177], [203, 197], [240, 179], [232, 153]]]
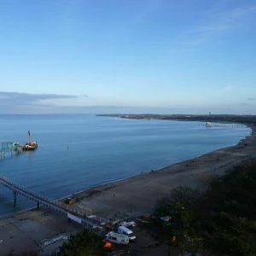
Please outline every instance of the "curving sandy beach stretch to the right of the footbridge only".
[[[132, 177], [96, 185], [67, 197], [72, 197], [75, 207], [102, 218], [127, 218], [150, 212], [152, 210], [150, 206], [153, 206], [161, 197], [168, 195], [170, 188], [185, 184], [196, 186], [202, 178], [200, 176], [206, 178], [212, 175], [223, 175], [232, 166], [255, 157], [256, 125], [247, 125], [247, 127], [251, 129], [251, 134], [234, 146], [219, 148], [193, 159], [164, 166], [153, 172], [141, 172]], [[170, 186], [166, 183], [170, 183]], [[133, 193], [129, 192], [129, 189]], [[127, 192], [124, 193], [124, 191]], [[147, 204], [148, 198], [150, 203]]]

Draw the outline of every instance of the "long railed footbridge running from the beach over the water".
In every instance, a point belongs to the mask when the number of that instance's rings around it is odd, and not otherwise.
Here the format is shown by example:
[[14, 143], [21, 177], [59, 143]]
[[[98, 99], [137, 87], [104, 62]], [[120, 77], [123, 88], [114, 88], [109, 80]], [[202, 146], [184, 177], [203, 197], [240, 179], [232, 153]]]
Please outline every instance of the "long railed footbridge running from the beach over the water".
[[100, 218], [96, 215], [91, 215], [89, 212], [84, 212], [75, 207], [67, 206], [60, 201], [52, 200], [44, 195], [39, 195], [30, 189], [26, 189], [23, 186], [20, 186], [17, 183], [12, 182], [7, 177], [3, 177], [0, 175], [0, 183], [14, 191], [14, 202], [16, 204], [17, 195], [23, 195], [26, 198], [35, 201], [37, 203], [38, 208], [40, 206], [48, 207], [55, 212], [59, 212], [67, 216], [68, 220], [73, 219], [79, 224], [83, 224], [87, 228], [93, 228], [98, 224], [107, 223], [107, 219]]

